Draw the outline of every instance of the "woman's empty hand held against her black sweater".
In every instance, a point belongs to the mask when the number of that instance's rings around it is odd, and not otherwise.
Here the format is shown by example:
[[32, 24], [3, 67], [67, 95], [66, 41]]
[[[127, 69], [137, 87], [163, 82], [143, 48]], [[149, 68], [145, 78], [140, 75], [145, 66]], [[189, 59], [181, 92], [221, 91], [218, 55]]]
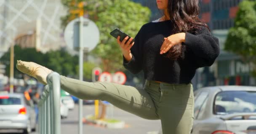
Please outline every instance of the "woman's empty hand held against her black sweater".
[[185, 33], [176, 33], [167, 38], [164, 38], [163, 44], [160, 49], [160, 54], [164, 54], [171, 49], [172, 46], [179, 44], [181, 42], [185, 42]]

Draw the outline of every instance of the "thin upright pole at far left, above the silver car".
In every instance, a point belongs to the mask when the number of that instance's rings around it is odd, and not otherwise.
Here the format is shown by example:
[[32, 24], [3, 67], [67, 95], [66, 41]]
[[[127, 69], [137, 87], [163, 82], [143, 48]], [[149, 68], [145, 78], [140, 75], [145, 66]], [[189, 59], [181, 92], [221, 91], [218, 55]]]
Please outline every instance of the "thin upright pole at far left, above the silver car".
[[10, 55], [10, 93], [13, 93], [13, 61], [14, 61], [14, 44], [11, 44]]

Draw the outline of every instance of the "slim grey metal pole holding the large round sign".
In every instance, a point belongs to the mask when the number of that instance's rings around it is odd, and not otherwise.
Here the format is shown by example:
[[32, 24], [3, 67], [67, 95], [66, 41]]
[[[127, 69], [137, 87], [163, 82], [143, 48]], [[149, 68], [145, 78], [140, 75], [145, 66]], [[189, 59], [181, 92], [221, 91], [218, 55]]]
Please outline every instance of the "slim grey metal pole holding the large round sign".
[[[83, 16], [80, 16], [79, 25], [79, 80], [83, 81]], [[79, 127], [78, 134], [83, 134], [83, 100], [79, 99]]]

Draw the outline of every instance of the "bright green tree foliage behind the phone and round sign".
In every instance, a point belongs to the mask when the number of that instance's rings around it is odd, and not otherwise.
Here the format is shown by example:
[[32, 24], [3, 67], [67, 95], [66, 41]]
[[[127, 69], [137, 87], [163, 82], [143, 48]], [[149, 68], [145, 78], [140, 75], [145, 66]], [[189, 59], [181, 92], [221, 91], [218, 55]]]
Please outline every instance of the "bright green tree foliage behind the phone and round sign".
[[[77, 3], [83, 0], [76, 0]], [[70, 9], [76, 5], [69, 4], [74, 0], [62, 0]], [[114, 72], [122, 70], [122, 53], [115, 38], [109, 33], [115, 28], [120, 28], [128, 35], [135, 37], [144, 23], [149, 21], [150, 10], [130, 0], [86, 0], [85, 14], [96, 23], [100, 31], [100, 42], [92, 54], [101, 57], [104, 71]], [[62, 23], [67, 25], [69, 17], [62, 17]]]

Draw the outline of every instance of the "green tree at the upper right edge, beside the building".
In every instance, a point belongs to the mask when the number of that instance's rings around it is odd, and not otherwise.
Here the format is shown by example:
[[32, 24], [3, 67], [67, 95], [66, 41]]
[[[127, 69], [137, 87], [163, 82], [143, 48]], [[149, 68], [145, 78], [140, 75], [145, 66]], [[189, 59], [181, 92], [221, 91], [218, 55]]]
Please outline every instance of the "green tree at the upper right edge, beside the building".
[[229, 29], [224, 49], [256, 63], [256, 1], [243, 0]]

